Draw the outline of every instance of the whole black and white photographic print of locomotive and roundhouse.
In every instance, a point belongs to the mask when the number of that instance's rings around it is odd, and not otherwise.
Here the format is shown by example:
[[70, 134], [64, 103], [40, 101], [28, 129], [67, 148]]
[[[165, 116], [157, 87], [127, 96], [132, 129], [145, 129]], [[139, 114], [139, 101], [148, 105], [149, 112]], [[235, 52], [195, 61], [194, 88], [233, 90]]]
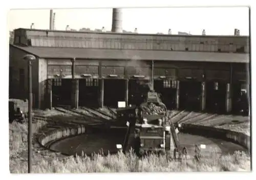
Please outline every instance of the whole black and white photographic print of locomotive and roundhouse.
[[252, 171], [250, 7], [7, 21], [10, 173]]

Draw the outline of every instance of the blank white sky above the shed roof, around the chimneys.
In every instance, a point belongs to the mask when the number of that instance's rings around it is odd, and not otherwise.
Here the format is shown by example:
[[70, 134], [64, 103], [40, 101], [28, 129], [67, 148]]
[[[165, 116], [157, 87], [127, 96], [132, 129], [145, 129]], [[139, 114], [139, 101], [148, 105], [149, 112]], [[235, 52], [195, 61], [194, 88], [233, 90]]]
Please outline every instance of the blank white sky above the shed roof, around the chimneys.
[[[81, 28], [111, 31], [112, 9], [53, 9], [55, 29]], [[50, 10], [10, 10], [8, 13], [9, 31], [17, 28], [49, 29]], [[201, 35], [233, 35], [234, 29], [240, 34], [249, 35], [249, 9], [247, 7], [223, 8], [125, 8], [122, 9], [123, 30], [138, 29], [138, 33], [187, 32]]]

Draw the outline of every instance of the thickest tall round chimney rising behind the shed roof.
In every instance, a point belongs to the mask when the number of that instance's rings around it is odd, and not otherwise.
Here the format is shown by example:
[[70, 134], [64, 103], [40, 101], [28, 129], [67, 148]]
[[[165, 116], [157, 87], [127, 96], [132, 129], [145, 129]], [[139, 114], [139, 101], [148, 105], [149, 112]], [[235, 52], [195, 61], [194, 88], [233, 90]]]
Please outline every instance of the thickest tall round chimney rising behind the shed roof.
[[122, 33], [122, 9], [113, 8], [112, 30], [113, 33]]

